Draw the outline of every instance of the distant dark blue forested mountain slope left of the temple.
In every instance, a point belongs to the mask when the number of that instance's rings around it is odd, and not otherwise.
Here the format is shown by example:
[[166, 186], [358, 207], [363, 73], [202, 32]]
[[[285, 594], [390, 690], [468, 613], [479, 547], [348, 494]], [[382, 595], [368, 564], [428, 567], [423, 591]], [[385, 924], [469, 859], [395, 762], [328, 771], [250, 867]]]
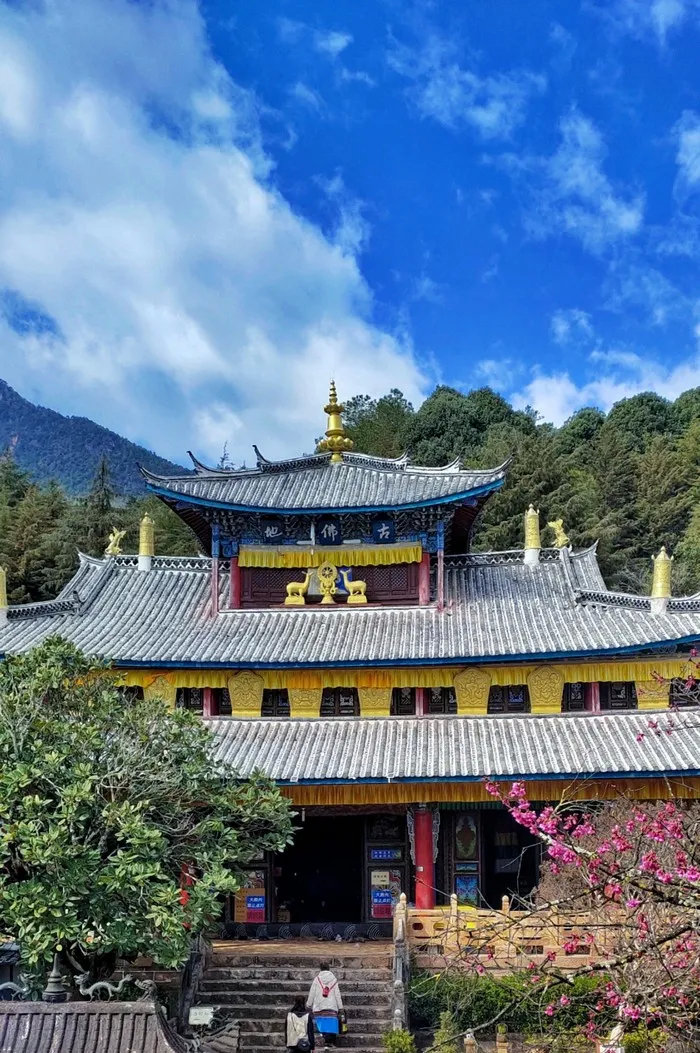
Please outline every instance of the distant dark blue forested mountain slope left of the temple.
[[64, 417], [35, 405], [0, 380], [0, 450], [6, 448], [36, 482], [55, 479], [67, 494], [87, 493], [101, 457], [108, 458], [121, 494], [143, 493], [137, 462], [162, 474], [181, 471], [86, 417]]

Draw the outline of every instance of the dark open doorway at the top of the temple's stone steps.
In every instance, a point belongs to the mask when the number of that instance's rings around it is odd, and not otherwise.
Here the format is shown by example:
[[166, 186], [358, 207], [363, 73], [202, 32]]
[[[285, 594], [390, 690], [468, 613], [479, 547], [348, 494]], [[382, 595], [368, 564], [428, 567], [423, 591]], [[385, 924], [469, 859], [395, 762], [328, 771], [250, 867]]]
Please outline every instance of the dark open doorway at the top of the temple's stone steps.
[[277, 917], [304, 921], [362, 920], [364, 819], [312, 817], [275, 860]]

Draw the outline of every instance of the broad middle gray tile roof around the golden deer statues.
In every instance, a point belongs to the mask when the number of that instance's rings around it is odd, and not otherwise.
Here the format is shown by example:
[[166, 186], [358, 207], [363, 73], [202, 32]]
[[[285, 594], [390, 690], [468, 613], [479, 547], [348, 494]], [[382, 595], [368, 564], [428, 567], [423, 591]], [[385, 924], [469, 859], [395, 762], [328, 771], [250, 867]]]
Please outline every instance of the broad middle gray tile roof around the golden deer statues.
[[[222, 610], [213, 618], [209, 567], [206, 558], [162, 557], [142, 574], [135, 556], [83, 557], [58, 604], [11, 608], [0, 625], [0, 654], [60, 634], [117, 664], [462, 663], [615, 654], [700, 639], [700, 597], [665, 614], [581, 602], [580, 590], [604, 591], [593, 550], [574, 556], [543, 550], [535, 569], [518, 552], [447, 559], [443, 612], [308, 605]], [[224, 570], [222, 609], [227, 593]]]

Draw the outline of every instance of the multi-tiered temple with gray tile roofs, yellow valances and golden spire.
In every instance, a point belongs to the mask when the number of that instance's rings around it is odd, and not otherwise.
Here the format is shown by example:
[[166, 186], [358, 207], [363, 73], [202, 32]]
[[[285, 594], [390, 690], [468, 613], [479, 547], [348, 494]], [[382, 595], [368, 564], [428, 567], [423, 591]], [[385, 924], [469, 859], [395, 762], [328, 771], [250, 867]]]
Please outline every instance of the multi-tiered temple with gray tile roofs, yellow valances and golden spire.
[[700, 595], [672, 596], [666, 553], [652, 595], [611, 592], [560, 521], [542, 545], [532, 505], [522, 549], [474, 552], [507, 464], [354, 453], [333, 385], [325, 412], [313, 455], [143, 473], [201, 557], [156, 555], [146, 517], [138, 555], [81, 556], [55, 600], [0, 596], [0, 653], [60, 635], [107, 658], [124, 690], [201, 713], [214, 762], [263, 770], [297, 806], [228, 934], [382, 934], [401, 891], [419, 908], [526, 895], [537, 850], [486, 777], [539, 801], [699, 797], [697, 724], [648, 729], [694, 701], [700, 640]]

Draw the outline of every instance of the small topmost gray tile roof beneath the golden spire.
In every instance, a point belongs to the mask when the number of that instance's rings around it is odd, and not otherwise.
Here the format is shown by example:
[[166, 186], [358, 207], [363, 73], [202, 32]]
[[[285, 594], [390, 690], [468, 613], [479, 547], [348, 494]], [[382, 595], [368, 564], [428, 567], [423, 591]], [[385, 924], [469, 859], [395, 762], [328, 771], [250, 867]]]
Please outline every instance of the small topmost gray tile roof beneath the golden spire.
[[[197, 463], [197, 462], [196, 462]], [[142, 469], [148, 486], [174, 497], [216, 501], [238, 509], [283, 512], [328, 512], [348, 509], [398, 509], [468, 496], [496, 489], [506, 465], [488, 471], [415, 468], [405, 458], [382, 460], [345, 454], [342, 463], [329, 454], [294, 461], [259, 459], [255, 469], [221, 471], [199, 465], [195, 475], [156, 476]]]

